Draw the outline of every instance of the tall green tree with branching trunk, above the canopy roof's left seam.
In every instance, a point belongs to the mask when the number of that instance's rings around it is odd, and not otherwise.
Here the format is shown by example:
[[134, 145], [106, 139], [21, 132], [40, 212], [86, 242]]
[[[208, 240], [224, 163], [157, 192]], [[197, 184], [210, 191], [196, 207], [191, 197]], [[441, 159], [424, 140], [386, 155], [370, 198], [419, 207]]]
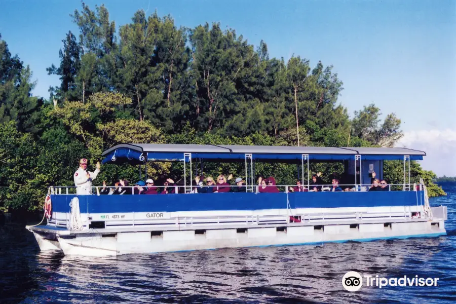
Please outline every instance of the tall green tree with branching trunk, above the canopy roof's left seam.
[[247, 59], [254, 56], [253, 47], [237, 36], [234, 30], [223, 32], [217, 23], [197, 26], [190, 31], [193, 48], [192, 71], [195, 79], [196, 102], [191, 119], [198, 130], [211, 131], [223, 127], [233, 113], [238, 98], [236, 81]]

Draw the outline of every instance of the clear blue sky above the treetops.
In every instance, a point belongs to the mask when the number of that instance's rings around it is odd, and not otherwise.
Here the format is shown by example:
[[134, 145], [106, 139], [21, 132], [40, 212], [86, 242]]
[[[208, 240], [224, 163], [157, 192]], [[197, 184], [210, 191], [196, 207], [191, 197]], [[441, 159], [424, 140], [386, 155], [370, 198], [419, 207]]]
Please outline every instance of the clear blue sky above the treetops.
[[[86, 1], [92, 8], [100, 1]], [[249, 43], [268, 44], [271, 57], [292, 54], [332, 64], [344, 82], [339, 97], [353, 115], [375, 103], [402, 119], [403, 144], [426, 130], [456, 132], [456, 0], [439, 1], [105, 1], [116, 26], [130, 22], [138, 9], [170, 14], [177, 25], [220, 22]], [[48, 97], [78, 0], [0, 0], [0, 33], [38, 81], [34, 95]], [[423, 133], [424, 134], [424, 133]], [[446, 133], [445, 133], [446, 134]], [[416, 140], [420, 136], [413, 135]], [[456, 148], [456, 141], [449, 140]], [[437, 157], [434, 157], [437, 161]], [[444, 174], [456, 175], [456, 163]], [[431, 165], [429, 165], [431, 166]], [[425, 166], [426, 167], [426, 166]], [[448, 167], [448, 166], [446, 166]], [[446, 171], [445, 171], [446, 170]], [[437, 172], [438, 174], [442, 172]]]

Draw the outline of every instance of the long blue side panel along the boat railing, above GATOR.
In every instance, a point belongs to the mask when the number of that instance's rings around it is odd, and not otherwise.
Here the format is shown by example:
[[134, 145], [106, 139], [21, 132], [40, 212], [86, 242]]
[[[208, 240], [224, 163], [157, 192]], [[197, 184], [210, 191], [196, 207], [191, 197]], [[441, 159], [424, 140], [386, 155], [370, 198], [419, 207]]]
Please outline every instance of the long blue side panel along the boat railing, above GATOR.
[[[52, 195], [54, 212], [70, 212], [75, 195]], [[81, 213], [176, 212], [287, 209], [286, 193], [208, 193], [169, 195], [80, 195]], [[423, 205], [422, 191], [289, 193], [290, 208]]]

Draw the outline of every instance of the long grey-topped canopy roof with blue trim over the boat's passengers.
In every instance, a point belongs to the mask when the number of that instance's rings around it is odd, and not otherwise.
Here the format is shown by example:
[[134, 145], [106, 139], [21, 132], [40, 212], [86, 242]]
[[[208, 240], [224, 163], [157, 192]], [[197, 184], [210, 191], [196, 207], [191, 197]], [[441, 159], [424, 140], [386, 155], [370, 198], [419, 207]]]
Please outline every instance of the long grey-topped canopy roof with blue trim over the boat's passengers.
[[[296, 146], [248, 146], [248, 145], [200, 145], [200, 144], [119, 144], [103, 152], [103, 164], [142, 164], [145, 161], [184, 161], [184, 154], [192, 159], [205, 161], [244, 160], [246, 154], [256, 161], [300, 161], [309, 155], [311, 161], [353, 160], [361, 155], [363, 160], [423, 160], [424, 151], [408, 148], [369, 147], [296, 147]], [[188, 157], [185, 159], [189, 161]]]

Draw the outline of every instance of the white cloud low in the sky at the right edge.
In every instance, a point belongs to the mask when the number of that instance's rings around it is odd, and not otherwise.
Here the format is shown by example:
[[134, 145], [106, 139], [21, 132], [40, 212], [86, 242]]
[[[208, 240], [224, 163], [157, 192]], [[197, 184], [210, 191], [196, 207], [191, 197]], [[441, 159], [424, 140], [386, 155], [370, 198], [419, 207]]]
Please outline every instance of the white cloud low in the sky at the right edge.
[[421, 161], [424, 169], [434, 171], [437, 176], [456, 176], [456, 130], [404, 132], [396, 146], [423, 150], [427, 155]]

